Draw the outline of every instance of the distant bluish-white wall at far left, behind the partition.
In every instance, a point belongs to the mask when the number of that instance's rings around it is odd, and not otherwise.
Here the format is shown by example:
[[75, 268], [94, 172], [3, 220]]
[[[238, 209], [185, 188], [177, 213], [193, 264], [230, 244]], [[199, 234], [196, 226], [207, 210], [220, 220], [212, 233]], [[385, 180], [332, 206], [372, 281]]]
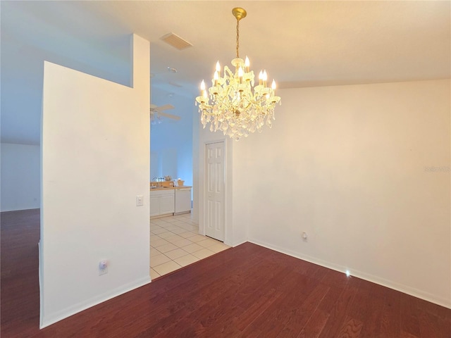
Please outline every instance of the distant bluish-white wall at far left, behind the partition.
[[39, 145], [1, 144], [1, 211], [39, 208]]

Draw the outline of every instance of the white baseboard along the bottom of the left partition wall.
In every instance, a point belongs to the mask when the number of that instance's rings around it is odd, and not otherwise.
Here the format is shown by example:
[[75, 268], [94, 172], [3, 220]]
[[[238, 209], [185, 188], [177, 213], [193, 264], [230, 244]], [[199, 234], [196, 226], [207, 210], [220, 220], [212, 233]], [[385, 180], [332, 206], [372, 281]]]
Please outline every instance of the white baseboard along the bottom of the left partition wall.
[[[111, 292], [106, 292], [104, 294], [99, 294], [99, 296], [94, 297], [92, 299], [88, 299], [87, 301], [82, 301], [80, 303], [77, 303], [73, 306], [70, 306], [68, 308], [65, 308], [61, 311], [58, 311], [56, 313], [51, 313], [49, 315], [42, 314], [41, 311], [41, 320], [39, 329], [43, 329], [44, 327], [47, 327], [49, 325], [52, 325], [60, 320], [63, 320], [65, 318], [70, 317], [71, 315], [75, 315], [75, 313], [79, 313], [81, 311], [86, 310], [87, 308], [91, 308], [92, 306], [96, 306], [99, 303], [103, 303], [104, 301], [108, 301], [109, 299], [113, 299], [116, 296], [120, 296], [121, 294], [125, 294], [126, 292], [132, 291], [133, 289], [137, 289], [138, 287], [142, 287], [145, 284], [150, 283], [150, 276], [143, 277], [140, 280], [136, 280], [134, 282], [122, 285], [121, 287], [118, 287], [116, 289], [111, 290]], [[41, 309], [42, 309], [41, 304]]]

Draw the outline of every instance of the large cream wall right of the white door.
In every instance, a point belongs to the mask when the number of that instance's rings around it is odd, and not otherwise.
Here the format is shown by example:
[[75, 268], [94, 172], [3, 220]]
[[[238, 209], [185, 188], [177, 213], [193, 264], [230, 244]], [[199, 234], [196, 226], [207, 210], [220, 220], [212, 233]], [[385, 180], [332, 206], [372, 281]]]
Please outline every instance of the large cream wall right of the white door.
[[273, 129], [234, 144], [234, 227], [451, 307], [450, 80], [280, 96]]

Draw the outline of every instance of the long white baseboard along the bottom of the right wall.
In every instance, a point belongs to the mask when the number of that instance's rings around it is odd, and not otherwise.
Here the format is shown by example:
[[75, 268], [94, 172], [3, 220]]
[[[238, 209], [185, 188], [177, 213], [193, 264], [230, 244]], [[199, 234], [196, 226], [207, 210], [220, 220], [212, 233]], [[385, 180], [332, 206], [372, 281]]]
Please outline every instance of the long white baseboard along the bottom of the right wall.
[[[264, 246], [265, 248], [268, 248], [268, 249], [271, 249], [274, 251], [278, 251], [280, 253], [285, 253], [288, 256], [299, 258], [299, 259], [302, 259], [303, 261], [314, 263], [316, 265], [321, 265], [324, 268], [329, 268], [329, 269], [338, 271], [340, 273], [346, 273], [346, 270], [347, 270], [347, 267], [345, 267], [345, 266], [330, 263], [328, 261], [323, 261], [319, 258], [311, 257], [308, 255], [302, 255], [295, 251], [291, 251], [291, 250], [281, 248], [279, 246], [275, 246], [272, 244], [268, 244], [265, 242], [261, 242], [258, 239], [249, 239], [248, 242], [251, 242], [251, 243], [254, 243], [254, 244], [257, 244], [260, 246]], [[352, 270], [350, 272], [350, 275], [352, 275], [354, 277], [358, 277], [362, 280], [367, 280], [369, 282], [373, 282], [373, 283], [382, 285], [383, 287], [388, 287], [390, 289], [394, 289], [394, 290], [402, 292], [404, 294], [409, 294], [410, 296], [414, 296], [419, 299], [424, 299], [425, 301], [429, 301], [431, 303], [435, 303], [437, 305], [444, 306], [445, 308], [451, 308], [451, 299], [445, 299], [445, 298], [437, 296], [435, 294], [430, 294], [428, 292], [424, 292], [422, 290], [415, 289], [414, 287], [409, 287], [404, 284], [393, 282], [392, 280], [385, 280], [384, 278], [381, 278], [381, 277], [378, 277], [375, 275], [371, 275], [369, 273], [364, 273], [364, 272], [358, 271], [358, 270]]]

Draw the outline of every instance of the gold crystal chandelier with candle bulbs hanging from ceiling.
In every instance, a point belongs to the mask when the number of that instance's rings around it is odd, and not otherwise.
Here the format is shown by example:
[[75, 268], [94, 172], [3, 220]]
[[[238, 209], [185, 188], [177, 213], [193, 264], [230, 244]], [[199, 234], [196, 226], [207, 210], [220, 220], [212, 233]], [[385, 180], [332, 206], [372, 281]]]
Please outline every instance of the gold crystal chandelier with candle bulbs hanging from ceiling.
[[[208, 91], [202, 80], [201, 94], [196, 101], [199, 104], [201, 122], [206, 127], [210, 123], [210, 131], [221, 130], [224, 135], [239, 140], [247, 137], [249, 133], [261, 132], [266, 123], [271, 128], [274, 116], [274, 107], [280, 101], [275, 95], [276, 82], [267, 87], [266, 70], [259, 73], [259, 83], [254, 86], [254, 71], [249, 69], [249, 58], [244, 61], [240, 58], [240, 20], [247, 13], [243, 8], [233, 8], [233, 15], [237, 19], [237, 57], [232, 60], [235, 73], [224, 66], [221, 76], [221, 65], [216, 63], [216, 71], [211, 87]], [[197, 105], [196, 104], [196, 105]]]

